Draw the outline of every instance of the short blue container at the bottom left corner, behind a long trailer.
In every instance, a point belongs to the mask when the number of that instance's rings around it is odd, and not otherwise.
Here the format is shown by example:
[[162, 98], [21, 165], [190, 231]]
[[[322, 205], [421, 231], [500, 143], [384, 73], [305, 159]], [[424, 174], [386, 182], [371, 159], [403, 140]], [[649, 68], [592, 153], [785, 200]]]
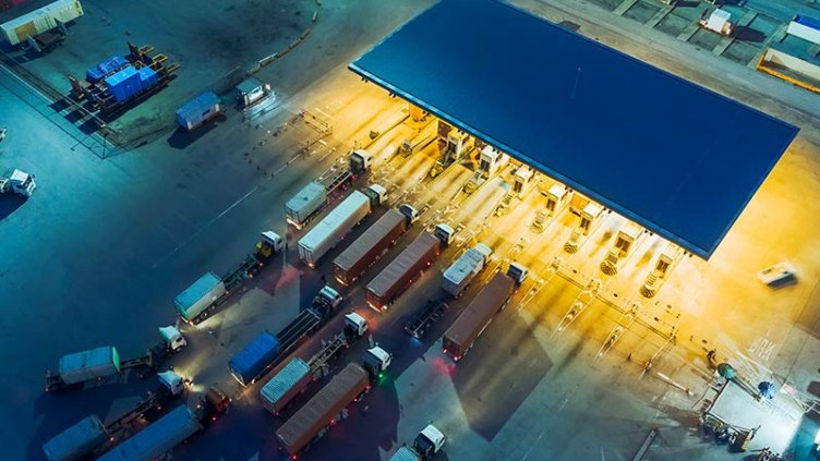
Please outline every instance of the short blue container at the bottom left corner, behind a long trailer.
[[91, 415], [48, 440], [43, 452], [48, 461], [77, 461], [102, 447], [107, 440], [102, 422]]

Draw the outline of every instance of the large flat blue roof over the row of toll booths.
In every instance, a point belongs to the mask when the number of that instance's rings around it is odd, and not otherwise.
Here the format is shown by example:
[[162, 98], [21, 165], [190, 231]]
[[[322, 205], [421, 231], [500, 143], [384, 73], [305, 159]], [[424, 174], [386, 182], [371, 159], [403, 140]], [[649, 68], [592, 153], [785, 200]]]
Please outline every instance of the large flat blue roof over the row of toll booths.
[[350, 70], [703, 258], [797, 134], [495, 0], [444, 0]]

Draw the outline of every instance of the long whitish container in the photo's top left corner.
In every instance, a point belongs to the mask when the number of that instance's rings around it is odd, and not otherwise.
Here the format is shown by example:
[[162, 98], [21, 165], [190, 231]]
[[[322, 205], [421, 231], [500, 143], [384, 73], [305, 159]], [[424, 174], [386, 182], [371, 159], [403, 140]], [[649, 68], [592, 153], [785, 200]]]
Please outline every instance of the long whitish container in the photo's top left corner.
[[80, 0], [57, 0], [0, 24], [0, 33], [5, 41], [17, 45], [27, 37], [57, 28], [58, 21], [65, 24], [83, 14]]

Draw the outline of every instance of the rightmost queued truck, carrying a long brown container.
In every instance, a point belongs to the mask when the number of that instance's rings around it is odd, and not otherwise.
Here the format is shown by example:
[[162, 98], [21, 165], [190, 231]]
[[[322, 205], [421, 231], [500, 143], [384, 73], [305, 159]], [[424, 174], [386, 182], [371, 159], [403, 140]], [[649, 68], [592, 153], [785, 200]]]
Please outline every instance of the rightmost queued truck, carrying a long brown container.
[[518, 263], [511, 263], [507, 272], [497, 272], [482, 288], [475, 299], [447, 329], [442, 340], [445, 354], [458, 362], [472, 348], [475, 339], [484, 332], [495, 314], [506, 307], [516, 289], [527, 278], [528, 269]]

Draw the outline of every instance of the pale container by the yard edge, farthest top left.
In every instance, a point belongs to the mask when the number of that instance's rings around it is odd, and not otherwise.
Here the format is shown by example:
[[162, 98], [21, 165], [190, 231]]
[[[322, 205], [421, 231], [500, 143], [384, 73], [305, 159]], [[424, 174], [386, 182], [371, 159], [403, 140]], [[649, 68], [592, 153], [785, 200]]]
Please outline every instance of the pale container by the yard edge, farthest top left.
[[17, 45], [82, 15], [80, 0], [33, 0], [0, 14], [0, 37]]

